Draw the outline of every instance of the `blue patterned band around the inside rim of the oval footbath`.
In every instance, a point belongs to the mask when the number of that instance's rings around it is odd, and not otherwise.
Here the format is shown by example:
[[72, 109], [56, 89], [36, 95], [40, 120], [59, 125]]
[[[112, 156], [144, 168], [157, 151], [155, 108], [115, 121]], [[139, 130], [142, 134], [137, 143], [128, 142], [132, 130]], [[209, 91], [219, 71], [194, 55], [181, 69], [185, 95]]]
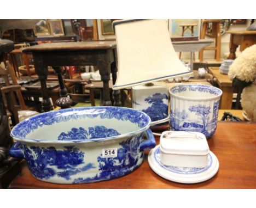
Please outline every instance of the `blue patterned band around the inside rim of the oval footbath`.
[[[79, 113], [80, 111], [88, 111], [88, 113]], [[65, 114], [67, 112], [67, 114]], [[60, 115], [60, 116], [58, 116]], [[129, 108], [114, 108], [114, 107], [89, 107], [89, 108], [73, 108], [62, 109], [60, 111], [52, 111], [36, 115], [30, 119], [24, 120], [16, 125], [11, 131], [11, 136], [25, 139], [27, 134], [38, 129], [44, 125], [53, 125], [69, 120], [77, 120], [83, 118], [97, 118], [101, 119], [115, 118], [122, 121], [130, 121], [135, 123], [138, 127], [145, 127], [148, 124], [148, 117], [141, 114], [139, 111], [134, 111]]]

